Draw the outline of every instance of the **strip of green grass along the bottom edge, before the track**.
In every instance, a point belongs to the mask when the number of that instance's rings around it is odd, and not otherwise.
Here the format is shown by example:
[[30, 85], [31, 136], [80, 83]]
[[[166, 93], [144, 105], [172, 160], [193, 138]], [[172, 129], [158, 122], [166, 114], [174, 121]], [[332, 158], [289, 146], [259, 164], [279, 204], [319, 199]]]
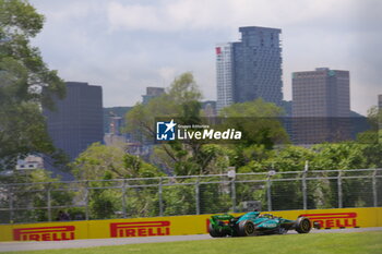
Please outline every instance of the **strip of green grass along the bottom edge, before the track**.
[[[14, 254], [15, 252], [9, 252]], [[382, 231], [225, 238], [188, 242], [127, 244], [88, 249], [17, 252], [25, 254], [180, 253], [382, 253]], [[1, 253], [3, 254], [3, 253]]]

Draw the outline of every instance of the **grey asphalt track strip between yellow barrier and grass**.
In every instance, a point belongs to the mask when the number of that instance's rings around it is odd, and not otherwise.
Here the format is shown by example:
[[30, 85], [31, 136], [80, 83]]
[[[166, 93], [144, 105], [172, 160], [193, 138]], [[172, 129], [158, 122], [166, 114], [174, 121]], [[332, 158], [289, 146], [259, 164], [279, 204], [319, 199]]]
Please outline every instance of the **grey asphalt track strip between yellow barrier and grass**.
[[[311, 233], [348, 233], [348, 232], [365, 232], [365, 231], [382, 231], [382, 227], [378, 228], [351, 228], [351, 229], [331, 229], [331, 230], [312, 230]], [[289, 231], [288, 234], [297, 233]], [[119, 238], [119, 239], [88, 239], [73, 241], [57, 241], [57, 242], [3, 242], [0, 243], [0, 252], [20, 252], [35, 250], [57, 250], [57, 249], [74, 249], [74, 247], [95, 247], [107, 245], [123, 245], [134, 243], [154, 243], [154, 242], [177, 242], [177, 241], [194, 241], [212, 239], [210, 234], [193, 234], [193, 235], [174, 235], [174, 237], [150, 237], [150, 238]]]

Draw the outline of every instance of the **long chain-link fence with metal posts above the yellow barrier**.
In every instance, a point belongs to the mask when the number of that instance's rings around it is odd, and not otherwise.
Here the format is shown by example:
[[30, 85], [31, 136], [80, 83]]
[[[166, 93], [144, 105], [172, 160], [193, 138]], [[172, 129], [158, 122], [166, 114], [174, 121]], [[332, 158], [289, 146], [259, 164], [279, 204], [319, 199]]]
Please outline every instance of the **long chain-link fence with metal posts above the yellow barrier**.
[[382, 206], [382, 169], [0, 185], [0, 222]]

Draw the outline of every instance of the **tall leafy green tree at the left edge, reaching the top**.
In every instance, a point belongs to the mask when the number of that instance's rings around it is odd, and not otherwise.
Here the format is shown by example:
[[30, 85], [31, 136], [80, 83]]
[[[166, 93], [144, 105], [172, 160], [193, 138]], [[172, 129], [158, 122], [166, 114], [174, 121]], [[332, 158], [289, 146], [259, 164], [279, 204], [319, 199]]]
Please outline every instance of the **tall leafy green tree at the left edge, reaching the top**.
[[41, 107], [53, 108], [53, 96], [65, 87], [56, 71], [32, 47], [44, 16], [22, 0], [0, 0], [0, 170], [13, 169], [31, 153], [55, 155]]

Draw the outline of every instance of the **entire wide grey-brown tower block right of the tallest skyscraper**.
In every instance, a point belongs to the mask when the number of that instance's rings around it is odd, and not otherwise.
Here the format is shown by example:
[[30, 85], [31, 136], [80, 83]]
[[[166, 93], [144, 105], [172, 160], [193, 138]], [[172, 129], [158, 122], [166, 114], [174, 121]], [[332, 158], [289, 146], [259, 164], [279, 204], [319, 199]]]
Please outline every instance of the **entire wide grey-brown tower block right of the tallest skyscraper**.
[[349, 72], [318, 68], [293, 73], [293, 117], [296, 143], [349, 140]]

